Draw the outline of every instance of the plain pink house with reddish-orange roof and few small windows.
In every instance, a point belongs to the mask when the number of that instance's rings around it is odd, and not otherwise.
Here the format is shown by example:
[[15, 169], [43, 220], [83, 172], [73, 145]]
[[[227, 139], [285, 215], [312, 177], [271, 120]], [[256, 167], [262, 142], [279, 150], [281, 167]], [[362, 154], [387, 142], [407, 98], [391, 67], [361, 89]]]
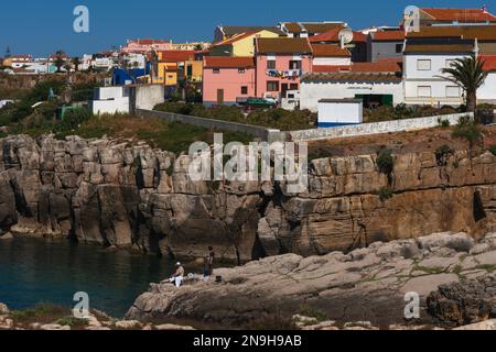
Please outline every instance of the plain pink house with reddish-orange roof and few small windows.
[[255, 97], [254, 57], [205, 56], [203, 66], [204, 105], [236, 105]]

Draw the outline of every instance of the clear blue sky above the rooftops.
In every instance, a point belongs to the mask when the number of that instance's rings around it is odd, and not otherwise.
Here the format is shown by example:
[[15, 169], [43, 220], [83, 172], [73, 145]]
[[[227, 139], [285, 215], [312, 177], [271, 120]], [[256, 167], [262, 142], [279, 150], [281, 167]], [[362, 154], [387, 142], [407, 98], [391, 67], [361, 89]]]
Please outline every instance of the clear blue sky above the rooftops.
[[[73, 31], [73, 10], [90, 11], [90, 33]], [[131, 37], [172, 38], [174, 42], [212, 41], [217, 24], [270, 25], [281, 21], [345, 21], [353, 29], [396, 25], [409, 6], [442, 8], [489, 7], [496, 0], [24, 0], [2, 1], [0, 56], [45, 56], [58, 48], [69, 55], [95, 53]]]

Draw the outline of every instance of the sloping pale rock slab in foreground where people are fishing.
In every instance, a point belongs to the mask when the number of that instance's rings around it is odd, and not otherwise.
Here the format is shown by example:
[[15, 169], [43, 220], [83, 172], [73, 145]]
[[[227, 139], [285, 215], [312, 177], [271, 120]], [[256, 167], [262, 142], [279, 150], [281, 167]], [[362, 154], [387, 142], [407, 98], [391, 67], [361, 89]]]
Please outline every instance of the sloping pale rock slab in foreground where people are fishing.
[[287, 254], [217, 270], [215, 275], [223, 277], [222, 283], [198, 280], [179, 289], [168, 283], [152, 284], [127, 318], [193, 319], [245, 327], [272, 315], [291, 317], [308, 306], [306, 311], [337, 323], [370, 321], [385, 328], [407, 322], [406, 294], [417, 293], [421, 317], [411, 323], [432, 323], [425, 305], [431, 292], [442, 284], [483, 277], [494, 272], [495, 264], [495, 234], [477, 245], [465, 233], [440, 233], [417, 241], [376, 242], [349, 254]]

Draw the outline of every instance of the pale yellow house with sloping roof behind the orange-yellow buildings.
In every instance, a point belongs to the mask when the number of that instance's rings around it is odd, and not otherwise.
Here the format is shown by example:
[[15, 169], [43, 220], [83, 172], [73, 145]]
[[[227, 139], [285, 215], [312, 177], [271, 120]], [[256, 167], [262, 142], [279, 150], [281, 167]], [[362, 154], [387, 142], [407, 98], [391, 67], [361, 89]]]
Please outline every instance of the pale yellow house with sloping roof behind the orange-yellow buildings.
[[261, 30], [240, 33], [228, 40], [214, 44], [211, 47], [211, 56], [248, 57], [255, 56], [255, 38], [279, 37], [279, 34]]

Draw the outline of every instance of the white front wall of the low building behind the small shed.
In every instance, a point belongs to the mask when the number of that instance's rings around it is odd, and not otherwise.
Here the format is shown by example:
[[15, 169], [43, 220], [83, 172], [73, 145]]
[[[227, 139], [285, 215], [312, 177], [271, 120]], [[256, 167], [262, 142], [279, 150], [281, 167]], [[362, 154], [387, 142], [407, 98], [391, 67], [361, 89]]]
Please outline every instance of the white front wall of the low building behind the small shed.
[[321, 99], [355, 98], [355, 95], [392, 95], [393, 105], [403, 102], [403, 85], [393, 84], [366, 84], [366, 82], [326, 82], [302, 81], [301, 109], [316, 112]]

